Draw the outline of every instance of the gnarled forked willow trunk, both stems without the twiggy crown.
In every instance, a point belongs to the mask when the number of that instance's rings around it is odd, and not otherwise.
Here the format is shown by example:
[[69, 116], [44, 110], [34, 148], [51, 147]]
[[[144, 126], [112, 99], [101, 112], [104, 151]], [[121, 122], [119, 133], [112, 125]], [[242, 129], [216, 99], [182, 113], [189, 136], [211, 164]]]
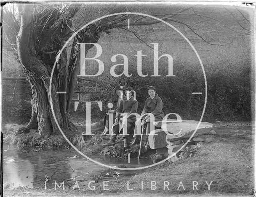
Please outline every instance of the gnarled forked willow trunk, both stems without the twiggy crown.
[[[76, 36], [73, 41], [70, 59], [68, 60], [66, 50], [64, 49], [60, 60], [56, 64], [52, 77], [52, 90], [50, 95], [50, 76], [53, 63], [42, 61], [37, 58], [36, 51], [32, 50], [36, 43], [32, 35], [32, 6], [23, 6], [20, 10], [21, 24], [17, 36], [18, 58], [23, 66], [26, 77], [32, 90], [32, 114], [30, 122], [25, 128], [32, 129], [38, 127], [40, 135], [49, 135], [58, 131], [56, 121], [60, 127], [68, 128], [71, 126], [68, 119], [68, 109], [70, 107], [77, 75], [80, 72], [80, 47], [78, 42], [98, 42], [99, 32], [90, 30], [90, 34], [82, 32]], [[58, 22], [56, 22], [58, 24]], [[59, 44], [64, 44], [64, 39]], [[62, 43], [63, 42], [63, 43]], [[86, 48], [86, 54], [93, 45]], [[53, 53], [52, 56], [57, 55]], [[66, 94], [57, 94], [56, 92], [66, 92]], [[56, 119], [51, 111], [50, 102], [54, 108]]]

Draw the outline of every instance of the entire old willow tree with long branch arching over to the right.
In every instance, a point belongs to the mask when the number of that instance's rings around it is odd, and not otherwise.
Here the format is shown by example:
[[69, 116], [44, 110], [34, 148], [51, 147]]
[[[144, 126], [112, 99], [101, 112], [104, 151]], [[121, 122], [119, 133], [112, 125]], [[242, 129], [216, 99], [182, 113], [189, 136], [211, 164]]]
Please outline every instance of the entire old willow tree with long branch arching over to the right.
[[[80, 27], [95, 18], [119, 12], [142, 12], [162, 20], [179, 23], [208, 44], [221, 45], [212, 43], [207, 40], [207, 37], [200, 35], [197, 31], [200, 29], [198, 24], [187, 24], [175, 18], [179, 14], [206, 17], [196, 14], [193, 8], [188, 6], [177, 7], [172, 10], [172, 13], [166, 10], [162, 13], [154, 13], [140, 6], [136, 8], [116, 5], [100, 7], [65, 3], [6, 5], [3, 9], [4, 46], [16, 54], [16, 59], [23, 67], [32, 90], [32, 113], [26, 129], [38, 128], [40, 135], [48, 135], [58, 130], [50, 109], [50, 76], [56, 56], [72, 34], [76, 36], [62, 51], [52, 78], [51, 98], [54, 112], [59, 125], [63, 128], [71, 127], [67, 111], [70, 108], [80, 72], [78, 43], [97, 43], [102, 32], [110, 34], [111, 29], [122, 28], [132, 32], [135, 38], [146, 44], [134, 27], [151, 26], [160, 22], [144, 16], [120, 14], [98, 20], [76, 33]], [[128, 18], [132, 27], [130, 29], [127, 28]], [[86, 45], [85, 56], [92, 47], [93, 44]], [[58, 91], [66, 94], [57, 94]]]

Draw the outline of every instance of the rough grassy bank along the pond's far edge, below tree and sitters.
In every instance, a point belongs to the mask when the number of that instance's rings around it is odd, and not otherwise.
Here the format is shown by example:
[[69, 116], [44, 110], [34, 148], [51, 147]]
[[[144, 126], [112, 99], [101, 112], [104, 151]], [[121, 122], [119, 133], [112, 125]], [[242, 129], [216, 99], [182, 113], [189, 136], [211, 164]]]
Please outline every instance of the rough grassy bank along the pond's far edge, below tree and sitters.
[[[79, 125], [78, 125], [79, 124]], [[97, 126], [91, 128], [93, 136], [82, 137], [85, 129], [85, 121], [77, 120], [74, 121], [74, 126], [72, 130], [63, 130], [66, 138], [77, 147], [85, 155], [102, 155], [110, 157], [128, 157], [130, 153], [131, 157], [138, 157], [139, 145], [134, 145], [130, 148], [124, 148], [124, 139], [122, 135], [118, 135], [116, 139], [116, 145], [111, 147], [103, 148], [102, 144], [107, 143], [110, 139], [109, 135], [101, 136], [100, 134], [104, 130], [102, 121], [97, 123]], [[130, 139], [131, 141], [132, 139]], [[30, 133], [22, 133], [15, 135], [15, 133], [6, 133], [4, 135], [4, 141], [6, 145], [15, 145], [18, 148], [25, 147], [40, 147], [43, 149], [67, 149], [72, 148], [70, 143], [66, 141], [65, 137], [61, 133], [56, 133], [54, 135], [39, 137], [38, 131], [32, 129]], [[142, 150], [142, 157], [151, 158], [155, 154], [154, 150], [145, 152]]]

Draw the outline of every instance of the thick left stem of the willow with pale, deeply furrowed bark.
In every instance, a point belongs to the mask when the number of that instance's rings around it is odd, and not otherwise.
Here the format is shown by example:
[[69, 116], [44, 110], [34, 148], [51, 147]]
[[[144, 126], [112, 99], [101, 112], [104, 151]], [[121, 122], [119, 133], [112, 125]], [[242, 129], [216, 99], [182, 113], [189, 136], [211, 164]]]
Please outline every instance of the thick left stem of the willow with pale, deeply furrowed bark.
[[[36, 57], [32, 56], [31, 32], [32, 32], [32, 6], [23, 6], [21, 12], [20, 31], [17, 36], [17, 51], [20, 64], [22, 64], [26, 77], [32, 89], [32, 114], [26, 128], [34, 128], [37, 122], [40, 135], [48, 135], [58, 131], [55, 119], [50, 109], [50, 101], [56, 115], [56, 121], [62, 126], [63, 119], [60, 112], [59, 100], [56, 94], [56, 79], [52, 80], [52, 91], [50, 98], [50, 72], [48, 68]], [[55, 84], [54, 84], [55, 83]]]

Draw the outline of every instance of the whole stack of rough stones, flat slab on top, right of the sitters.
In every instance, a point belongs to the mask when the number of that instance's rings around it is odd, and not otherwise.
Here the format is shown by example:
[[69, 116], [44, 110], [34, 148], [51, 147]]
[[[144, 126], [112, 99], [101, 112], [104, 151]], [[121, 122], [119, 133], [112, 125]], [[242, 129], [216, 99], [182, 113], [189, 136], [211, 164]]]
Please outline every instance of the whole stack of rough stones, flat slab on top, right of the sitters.
[[[199, 141], [208, 143], [213, 141], [213, 136], [209, 134], [216, 134], [212, 130], [213, 125], [211, 123], [201, 122], [195, 132], [198, 121], [182, 120], [178, 122], [173, 119], [168, 119], [168, 121], [172, 122], [159, 121], [154, 123], [161, 129], [156, 129], [150, 133], [149, 145], [151, 149], [156, 149], [156, 155], [163, 154], [170, 157], [169, 160], [173, 162], [182, 157], [182, 151], [186, 146], [195, 145]], [[191, 136], [192, 138], [188, 141]], [[186, 145], [184, 145], [185, 143]]]

